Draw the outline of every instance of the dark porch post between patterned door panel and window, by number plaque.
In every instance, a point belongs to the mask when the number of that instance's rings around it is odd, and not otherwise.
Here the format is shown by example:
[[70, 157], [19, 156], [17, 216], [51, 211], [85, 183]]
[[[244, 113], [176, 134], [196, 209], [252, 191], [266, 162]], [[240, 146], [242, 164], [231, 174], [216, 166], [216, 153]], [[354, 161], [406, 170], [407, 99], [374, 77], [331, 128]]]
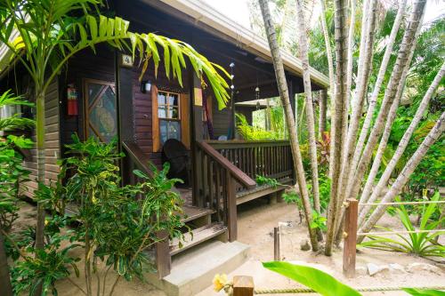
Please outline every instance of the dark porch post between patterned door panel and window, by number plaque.
[[[122, 141], [134, 141], [134, 106], [133, 106], [133, 69], [119, 65], [120, 53], [116, 52], [116, 94], [118, 145], [122, 151]], [[124, 119], [124, 120], [123, 120]], [[130, 184], [134, 181], [134, 165], [125, 157], [122, 162], [122, 181]]]

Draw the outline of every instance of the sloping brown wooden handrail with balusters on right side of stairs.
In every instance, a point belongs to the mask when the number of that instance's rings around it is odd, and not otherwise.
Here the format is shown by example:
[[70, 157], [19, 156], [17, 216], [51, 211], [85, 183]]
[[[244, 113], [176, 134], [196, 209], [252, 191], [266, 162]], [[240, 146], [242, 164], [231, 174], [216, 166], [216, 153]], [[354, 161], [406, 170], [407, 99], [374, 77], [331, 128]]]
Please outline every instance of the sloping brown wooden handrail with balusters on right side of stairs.
[[216, 212], [216, 219], [229, 231], [229, 241], [237, 239], [237, 184], [255, 188], [256, 182], [206, 142], [197, 142], [199, 200]]

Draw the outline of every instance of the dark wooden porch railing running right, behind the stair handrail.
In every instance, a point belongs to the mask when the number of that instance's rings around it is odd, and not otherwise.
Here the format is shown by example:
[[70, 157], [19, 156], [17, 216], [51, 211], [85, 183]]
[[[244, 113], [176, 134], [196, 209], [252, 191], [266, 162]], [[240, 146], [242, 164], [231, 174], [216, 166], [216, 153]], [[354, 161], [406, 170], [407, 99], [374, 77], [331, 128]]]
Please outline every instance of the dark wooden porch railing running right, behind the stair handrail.
[[258, 175], [274, 179], [293, 176], [288, 140], [207, 140], [206, 143], [251, 179]]

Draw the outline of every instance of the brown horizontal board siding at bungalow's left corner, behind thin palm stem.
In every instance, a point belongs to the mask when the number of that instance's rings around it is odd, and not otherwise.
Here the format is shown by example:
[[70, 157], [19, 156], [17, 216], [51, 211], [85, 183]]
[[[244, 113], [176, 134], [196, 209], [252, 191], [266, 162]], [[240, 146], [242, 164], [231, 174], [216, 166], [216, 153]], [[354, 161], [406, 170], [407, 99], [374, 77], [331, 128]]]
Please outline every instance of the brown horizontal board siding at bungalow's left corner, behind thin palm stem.
[[[49, 184], [57, 180], [57, 175], [60, 172], [60, 167], [57, 164], [57, 160], [61, 156], [61, 143], [60, 126], [59, 126], [59, 83], [58, 80], [54, 80], [50, 84], [48, 91], [46, 92], [45, 104], [44, 104], [44, 117], [45, 117], [45, 137], [44, 137], [44, 155], [45, 155], [45, 183]], [[32, 140], [36, 141], [36, 132], [32, 132]], [[27, 168], [31, 174], [29, 175], [30, 181], [26, 182], [23, 186], [22, 194], [28, 197], [33, 196], [34, 190], [37, 188], [36, 172], [37, 172], [37, 159], [36, 148], [30, 150], [31, 159], [25, 161], [23, 166]]]

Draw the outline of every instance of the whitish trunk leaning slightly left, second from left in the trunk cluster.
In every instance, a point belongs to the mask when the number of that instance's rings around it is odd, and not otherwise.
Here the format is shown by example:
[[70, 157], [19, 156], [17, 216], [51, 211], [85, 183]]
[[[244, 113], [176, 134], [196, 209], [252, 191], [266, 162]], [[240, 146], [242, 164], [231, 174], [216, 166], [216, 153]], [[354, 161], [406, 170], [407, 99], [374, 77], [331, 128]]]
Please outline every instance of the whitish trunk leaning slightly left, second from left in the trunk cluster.
[[[311, 158], [312, 171], [312, 196], [315, 211], [321, 212], [319, 192], [319, 166], [317, 164], [317, 142], [315, 139], [315, 120], [313, 116], [313, 100], [311, 87], [311, 73], [309, 70], [308, 42], [302, 0], [296, 0], [296, 18], [298, 31], [298, 49], [303, 66], [303, 85], [306, 99], [306, 124], [309, 133], [309, 156]], [[319, 234], [320, 238], [321, 233]]]

